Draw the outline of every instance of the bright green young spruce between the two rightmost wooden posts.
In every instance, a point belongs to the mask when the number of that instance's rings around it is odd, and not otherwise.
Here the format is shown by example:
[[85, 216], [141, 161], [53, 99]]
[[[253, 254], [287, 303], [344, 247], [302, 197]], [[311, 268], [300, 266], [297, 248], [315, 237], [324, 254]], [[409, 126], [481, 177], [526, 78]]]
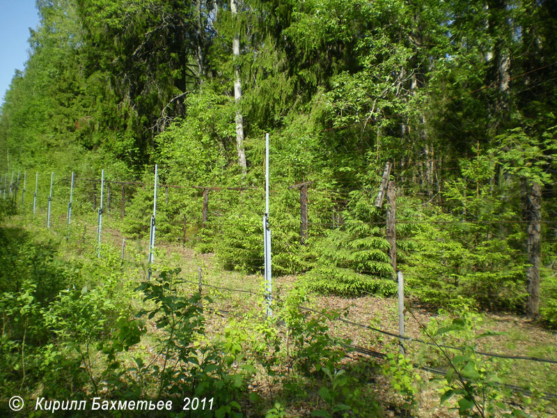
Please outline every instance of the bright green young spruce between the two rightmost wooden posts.
[[[521, 310], [526, 266], [508, 200], [494, 194], [494, 157], [461, 162], [462, 178], [447, 182], [450, 213], [432, 206], [409, 212], [405, 276], [423, 302], [448, 306], [460, 297], [488, 309]], [[509, 196], [507, 199], [515, 196]]]

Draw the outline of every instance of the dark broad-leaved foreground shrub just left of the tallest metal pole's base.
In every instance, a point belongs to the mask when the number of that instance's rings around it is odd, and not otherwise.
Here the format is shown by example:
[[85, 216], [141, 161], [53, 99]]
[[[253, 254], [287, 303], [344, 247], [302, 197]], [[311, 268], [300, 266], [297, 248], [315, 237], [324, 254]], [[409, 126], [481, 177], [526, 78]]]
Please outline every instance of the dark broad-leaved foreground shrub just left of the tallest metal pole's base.
[[[199, 295], [182, 297], [177, 294], [178, 272], [162, 271], [159, 277], [138, 288], [145, 295], [143, 302], [154, 304], [152, 309], [142, 310], [138, 316], [155, 320], [161, 332], [157, 350], [164, 355], [164, 361], [146, 364], [141, 357], [136, 357], [137, 371], [153, 380], [156, 392], [152, 394], [156, 398], [167, 396], [179, 401], [183, 396], [207, 397], [214, 398], [214, 404], [219, 405], [215, 411], [192, 412], [196, 416], [241, 417], [237, 412], [240, 404], [235, 399], [245, 389], [253, 368], [244, 367], [240, 372], [232, 369], [233, 362], [240, 360], [240, 350], [230, 330], [228, 334], [225, 332], [221, 343], [213, 344], [203, 337], [205, 318]], [[130, 371], [133, 369], [128, 369]]]

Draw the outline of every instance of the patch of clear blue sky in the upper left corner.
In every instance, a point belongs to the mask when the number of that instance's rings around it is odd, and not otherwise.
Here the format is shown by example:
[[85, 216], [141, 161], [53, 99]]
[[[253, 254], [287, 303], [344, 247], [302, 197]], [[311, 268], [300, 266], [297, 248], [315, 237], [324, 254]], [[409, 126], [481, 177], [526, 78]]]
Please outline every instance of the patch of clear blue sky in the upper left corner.
[[35, 0], [0, 0], [0, 102], [15, 69], [23, 70], [29, 57], [29, 28], [39, 23]]

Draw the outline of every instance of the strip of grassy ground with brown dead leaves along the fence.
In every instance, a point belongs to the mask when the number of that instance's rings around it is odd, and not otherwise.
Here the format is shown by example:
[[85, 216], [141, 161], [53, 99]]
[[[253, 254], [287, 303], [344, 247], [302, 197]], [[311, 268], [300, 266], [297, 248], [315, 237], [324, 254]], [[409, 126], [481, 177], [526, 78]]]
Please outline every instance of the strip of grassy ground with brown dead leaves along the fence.
[[[45, 222], [44, 213], [38, 212], [36, 217], [13, 217], [10, 222], [13, 224], [23, 224], [26, 229], [43, 230]], [[111, 217], [104, 218], [104, 229], [102, 233], [103, 245], [117, 249], [122, 247], [123, 235], [120, 233], [120, 222]], [[84, 251], [91, 251], [96, 242], [96, 219], [92, 216], [83, 217], [74, 215], [74, 224], [71, 234], [79, 237], [71, 240], [71, 245], [63, 249], [71, 257], [79, 258]], [[63, 238], [68, 233], [65, 228], [65, 216], [60, 215], [53, 219], [50, 231], [54, 238], [58, 238], [63, 243]], [[130, 272], [133, 280], [139, 283], [146, 279], [148, 266], [146, 263], [148, 253], [148, 241], [126, 240], [125, 245], [125, 268]], [[212, 286], [240, 289], [251, 291], [257, 295], [249, 293], [238, 293], [218, 288], [204, 287], [203, 293], [209, 295], [214, 301], [210, 306], [205, 305], [208, 317], [207, 333], [219, 334], [228, 323], [228, 316], [233, 314], [241, 316], [249, 311], [262, 309], [262, 288], [263, 277], [260, 275], [246, 275], [240, 272], [224, 271], [214, 260], [212, 254], [196, 254], [192, 249], [182, 247], [179, 244], [157, 241], [157, 253], [155, 255], [155, 270], [157, 263], [164, 261], [165, 265], [180, 267], [182, 269], [181, 278], [194, 283], [182, 284], [184, 293], [194, 293], [197, 291], [198, 268], [201, 267], [202, 279], [204, 284]], [[155, 273], [156, 274], [156, 273]], [[274, 278], [274, 296], [285, 297], [300, 277], [286, 276]], [[140, 303], [136, 301], [135, 303]], [[397, 300], [383, 299], [374, 296], [342, 298], [322, 295], [310, 295], [308, 306], [315, 309], [334, 309], [343, 313], [343, 317], [361, 325], [370, 325], [388, 332], [398, 333], [398, 311]], [[410, 301], [409, 310], [406, 315], [406, 334], [414, 339], [427, 339], [423, 333], [423, 327], [430, 325], [438, 326], [444, 316], [439, 316], [437, 312], [427, 311], [419, 307], [412, 307]], [[222, 314], [220, 311], [228, 311], [230, 314]], [[438, 342], [458, 344], [473, 343], [477, 350], [488, 351], [491, 353], [523, 355], [533, 357], [545, 357], [550, 359], [557, 358], [557, 334], [551, 330], [540, 327], [537, 323], [531, 323], [525, 318], [508, 314], [483, 314], [476, 319], [476, 336], [485, 334], [488, 330], [495, 334], [489, 334], [481, 338], [474, 336], [460, 336], [447, 341]], [[393, 345], [393, 339], [389, 336], [379, 334], [364, 327], [358, 327], [338, 321], [329, 324], [331, 333], [336, 336], [350, 338], [352, 343], [375, 350], [380, 353], [395, 353], [398, 350]], [[153, 328], [151, 334], [157, 331]], [[149, 337], [142, 341], [141, 349], [146, 353], [150, 350]], [[429, 340], [428, 340], [429, 341]], [[416, 366], [433, 366], [448, 369], [449, 364], [439, 350], [430, 346], [423, 346], [415, 342], [405, 344], [407, 358]], [[451, 353], [453, 355], [454, 353]], [[535, 389], [541, 392], [557, 394], [557, 364], [547, 364], [542, 362], [531, 362], [526, 360], [497, 359], [489, 363], [490, 373], [498, 373], [504, 383], [517, 385], [525, 389]], [[419, 371], [421, 377], [419, 382], [415, 382], [418, 391], [413, 405], [407, 403], [407, 399], [396, 394], [397, 391], [389, 385], [389, 379], [384, 377], [379, 371], [381, 362], [370, 359], [359, 353], [350, 353], [345, 368], [353, 376], [357, 376], [361, 382], [362, 393], [366, 394], [370, 400], [378, 399], [383, 412], [370, 410], [368, 415], [361, 416], [414, 416], [414, 417], [457, 417], [458, 414], [451, 409], [454, 404], [445, 403], [439, 405], [438, 390], [441, 387], [437, 381], [430, 381], [434, 376], [426, 371]], [[286, 416], [309, 416], [315, 405], [320, 402], [317, 391], [320, 382], [304, 376], [294, 376], [292, 379], [296, 387], [301, 390], [300, 394], [292, 393], [292, 389], [285, 389], [274, 384], [274, 381], [263, 376], [261, 373], [251, 386], [255, 392], [267, 399], [267, 406], [272, 406], [276, 401], [288, 405]], [[364, 397], [365, 397], [364, 396]], [[521, 401], [518, 400], [518, 403]], [[542, 402], [540, 400], [536, 402]], [[525, 405], [526, 406], [526, 405]], [[535, 406], [535, 405], [534, 405]], [[527, 407], [530, 408], [530, 407]], [[555, 411], [556, 402], [548, 405], [546, 412], [540, 412], [540, 417], [549, 416]], [[531, 408], [530, 408], [531, 409]], [[261, 416], [264, 411], [251, 411], [249, 416]], [[544, 415], [546, 414], [546, 415]], [[549, 415], [547, 415], [549, 414]]]

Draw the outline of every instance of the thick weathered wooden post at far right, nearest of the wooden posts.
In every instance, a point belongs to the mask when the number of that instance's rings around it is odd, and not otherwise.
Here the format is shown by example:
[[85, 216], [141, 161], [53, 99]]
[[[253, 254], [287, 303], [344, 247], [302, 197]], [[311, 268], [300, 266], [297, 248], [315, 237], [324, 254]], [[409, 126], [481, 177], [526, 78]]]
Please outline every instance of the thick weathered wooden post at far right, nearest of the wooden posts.
[[526, 233], [526, 252], [528, 253], [528, 268], [526, 269], [526, 316], [535, 320], [540, 314], [540, 264], [542, 241], [542, 187], [539, 183], [523, 180], [523, 214], [528, 226]]

